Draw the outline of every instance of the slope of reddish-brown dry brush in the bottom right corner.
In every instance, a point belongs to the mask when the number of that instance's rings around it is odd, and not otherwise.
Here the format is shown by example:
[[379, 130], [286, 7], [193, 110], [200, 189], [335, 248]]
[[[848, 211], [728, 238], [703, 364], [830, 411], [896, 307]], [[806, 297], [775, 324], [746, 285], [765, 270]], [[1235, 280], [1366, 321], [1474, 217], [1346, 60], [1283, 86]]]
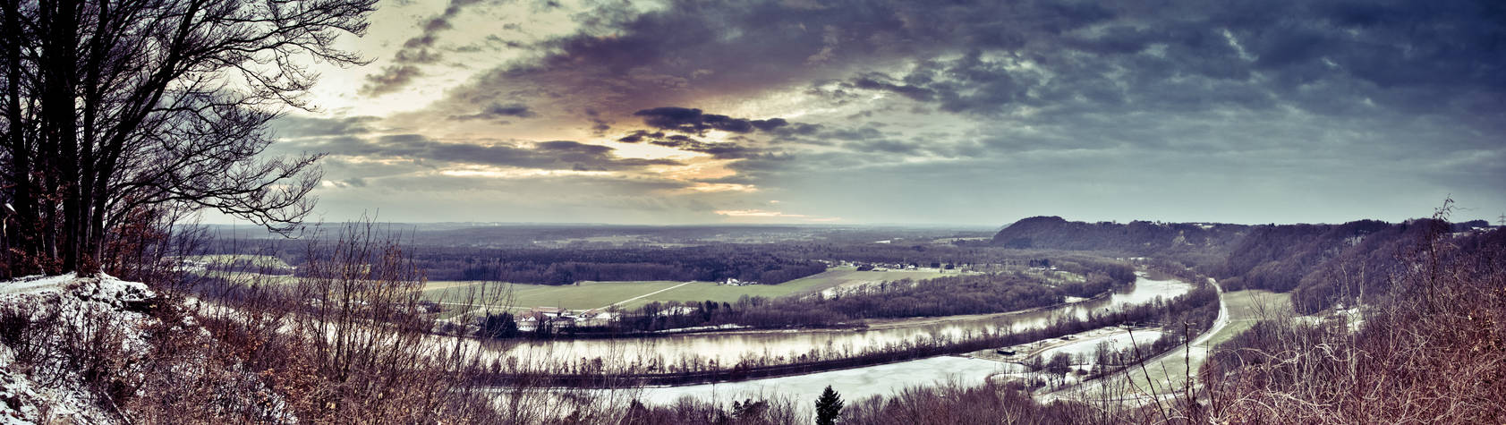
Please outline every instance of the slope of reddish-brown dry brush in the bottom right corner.
[[1364, 304], [1273, 316], [1220, 345], [1196, 408], [1214, 423], [1501, 423], [1506, 232], [1440, 229], [1392, 225], [1324, 256], [1297, 286], [1297, 307], [1306, 292], [1334, 291], [1316, 282], [1386, 286], [1366, 288]]

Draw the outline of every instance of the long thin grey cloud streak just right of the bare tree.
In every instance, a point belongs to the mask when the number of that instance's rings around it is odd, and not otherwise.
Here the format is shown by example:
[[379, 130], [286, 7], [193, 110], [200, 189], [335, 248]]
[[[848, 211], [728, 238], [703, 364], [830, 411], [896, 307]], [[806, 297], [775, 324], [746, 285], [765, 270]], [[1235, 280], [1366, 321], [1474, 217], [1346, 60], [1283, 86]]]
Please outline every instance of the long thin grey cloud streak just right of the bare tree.
[[626, 170], [646, 166], [678, 166], [673, 160], [620, 158], [614, 149], [571, 140], [532, 145], [446, 143], [420, 134], [380, 137], [327, 137], [285, 142], [283, 149], [333, 152], [366, 160], [408, 160], [425, 164], [480, 164], [545, 170]]

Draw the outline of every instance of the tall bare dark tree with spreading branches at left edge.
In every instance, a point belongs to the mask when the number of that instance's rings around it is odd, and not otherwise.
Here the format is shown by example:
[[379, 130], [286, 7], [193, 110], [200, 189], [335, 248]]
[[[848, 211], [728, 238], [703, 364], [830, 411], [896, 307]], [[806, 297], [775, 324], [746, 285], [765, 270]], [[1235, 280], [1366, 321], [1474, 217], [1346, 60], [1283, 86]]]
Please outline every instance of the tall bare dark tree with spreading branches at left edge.
[[[291, 231], [319, 155], [261, 158], [310, 65], [375, 0], [0, 0], [8, 273], [95, 271], [142, 208], [214, 208]], [[8, 211], [9, 212], [9, 211]]]

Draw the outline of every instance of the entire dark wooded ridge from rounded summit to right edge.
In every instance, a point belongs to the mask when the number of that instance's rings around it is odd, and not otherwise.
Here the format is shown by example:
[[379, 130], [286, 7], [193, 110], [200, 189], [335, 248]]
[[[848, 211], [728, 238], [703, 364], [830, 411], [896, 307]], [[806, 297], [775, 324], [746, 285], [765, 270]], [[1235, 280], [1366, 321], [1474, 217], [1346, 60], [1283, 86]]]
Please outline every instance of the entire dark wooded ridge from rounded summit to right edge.
[[[1009, 225], [994, 244], [1014, 249], [1096, 250], [1155, 258], [1221, 280], [1224, 289], [1292, 292], [1310, 313], [1364, 294], [1379, 295], [1402, 273], [1401, 261], [1429, 240], [1470, 244], [1489, 223], [1432, 219], [1343, 225], [1083, 223], [1030, 217]], [[1500, 238], [1500, 232], [1492, 232]]]

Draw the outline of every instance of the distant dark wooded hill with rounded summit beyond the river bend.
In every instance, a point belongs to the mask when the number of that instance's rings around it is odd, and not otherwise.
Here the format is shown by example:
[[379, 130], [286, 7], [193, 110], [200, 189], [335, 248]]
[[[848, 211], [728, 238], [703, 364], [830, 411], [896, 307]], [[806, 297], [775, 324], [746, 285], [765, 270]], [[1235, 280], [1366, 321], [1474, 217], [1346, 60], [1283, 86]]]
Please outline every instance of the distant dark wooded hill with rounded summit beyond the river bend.
[[1014, 249], [1098, 250], [1154, 256], [1184, 250], [1221, 252], [1250, 228], [1152, 222], [1084, 223], [1053, 216], [1015, 222], [994, 235], [994, 244]]

